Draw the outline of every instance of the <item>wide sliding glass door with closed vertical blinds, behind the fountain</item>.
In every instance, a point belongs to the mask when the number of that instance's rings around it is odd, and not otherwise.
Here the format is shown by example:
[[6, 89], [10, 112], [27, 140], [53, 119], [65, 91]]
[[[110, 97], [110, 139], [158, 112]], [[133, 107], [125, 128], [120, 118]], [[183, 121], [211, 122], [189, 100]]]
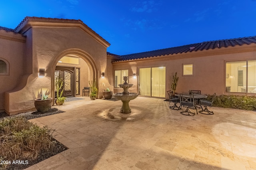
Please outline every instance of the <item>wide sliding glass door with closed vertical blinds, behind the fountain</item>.
[[139, 95], [150, 97], [165, 97], [165, 89], [165, 67], [139, 69]]

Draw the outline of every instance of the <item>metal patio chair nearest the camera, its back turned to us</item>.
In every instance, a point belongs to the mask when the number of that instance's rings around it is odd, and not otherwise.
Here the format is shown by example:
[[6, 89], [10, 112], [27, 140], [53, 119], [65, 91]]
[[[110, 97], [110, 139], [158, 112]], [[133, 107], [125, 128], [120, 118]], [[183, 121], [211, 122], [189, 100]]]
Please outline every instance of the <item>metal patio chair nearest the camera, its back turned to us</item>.
[[[194, 95], [187, 95], [187, 94], [180, 94], [180, 107], [179, 109], [183, 106], [186, 107], [185, 111], [180, 112], [182, 115], [186, 116], [194, 116], [195, 113], [191, 112], [190, 109], [196, 109], [196, 103], [195, 103]], [[196, 109], [196, 114], [197, 109]]]

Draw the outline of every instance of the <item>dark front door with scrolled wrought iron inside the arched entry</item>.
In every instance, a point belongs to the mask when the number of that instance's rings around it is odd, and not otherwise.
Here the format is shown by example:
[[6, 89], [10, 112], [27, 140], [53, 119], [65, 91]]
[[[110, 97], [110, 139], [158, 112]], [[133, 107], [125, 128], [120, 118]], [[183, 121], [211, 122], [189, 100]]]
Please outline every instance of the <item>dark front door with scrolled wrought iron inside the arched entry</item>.
[[[64, 97], [74, 97], [74, 68], [73, 67], [56, 67], [55, 69], [55, 80], [56, 77], [63, 79]], [[54, 83], [55, 84], [55, 83]], [[55, 87], [55, 97], [57, 95]], [[61, 89], [62, 90], [62, 89]]]

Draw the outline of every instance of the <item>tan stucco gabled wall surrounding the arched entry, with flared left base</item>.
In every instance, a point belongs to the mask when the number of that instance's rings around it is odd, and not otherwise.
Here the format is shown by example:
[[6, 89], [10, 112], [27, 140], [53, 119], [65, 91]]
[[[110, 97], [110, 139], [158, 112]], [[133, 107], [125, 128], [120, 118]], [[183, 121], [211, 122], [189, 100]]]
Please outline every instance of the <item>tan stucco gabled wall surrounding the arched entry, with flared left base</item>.
[[[34, 109], [34, 99], [40, 92], [54, 95], [54, 70], [60, 58], [74, 54], [90, 65], [90, 79], [96, 78], [103, 91], [100, 73], [106, 70], [106, 47], [80, 28], [30, 28], [26, 33], [27, 61], [24, 88], [6, 92], [5, 110], [9, 114]], [[45, 77], [38, 77], [39, 68], [45, 68]], [[53, 75], [53, 77], [52, 77]], [[107, 83], [107, 82], [105, 82]], [[26, 97], [24, 97], [24, 95]], [[100, 97], [100, 95], [99, 95]]]

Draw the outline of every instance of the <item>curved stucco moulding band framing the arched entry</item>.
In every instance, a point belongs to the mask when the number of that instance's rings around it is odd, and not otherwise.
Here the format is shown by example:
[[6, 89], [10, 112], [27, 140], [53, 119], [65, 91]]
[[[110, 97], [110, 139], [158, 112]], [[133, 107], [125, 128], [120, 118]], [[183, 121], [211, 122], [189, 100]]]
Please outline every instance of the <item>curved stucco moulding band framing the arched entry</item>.
[[[58, 61], [64, 57], [65, 55], [77, 55], [78, 57], [82, 58], [89, 67], [90, 70], [90, 79], [91, 80], [96, 80], [96, 84], [98, 85], [98, 75], [99, 75], [99, 71], [98, 68], [96, 66], [96, 63], [94, 61], [94, 59], [92, 58], [92, 56], [88, 53], [86, 53], [85, 51], [81, 50], [81, 49], [66, 49], [64, 51], [62, 51], [61, 53], [59, 53], [53, 60], [52, 64], [50, 65], [51, 68], [51, 95], [52, 97], [54, 97], [54, 71], [56, 68], [56, 65], [58, 63]], [[48, 68], [46, 68], [48, 69]]]

